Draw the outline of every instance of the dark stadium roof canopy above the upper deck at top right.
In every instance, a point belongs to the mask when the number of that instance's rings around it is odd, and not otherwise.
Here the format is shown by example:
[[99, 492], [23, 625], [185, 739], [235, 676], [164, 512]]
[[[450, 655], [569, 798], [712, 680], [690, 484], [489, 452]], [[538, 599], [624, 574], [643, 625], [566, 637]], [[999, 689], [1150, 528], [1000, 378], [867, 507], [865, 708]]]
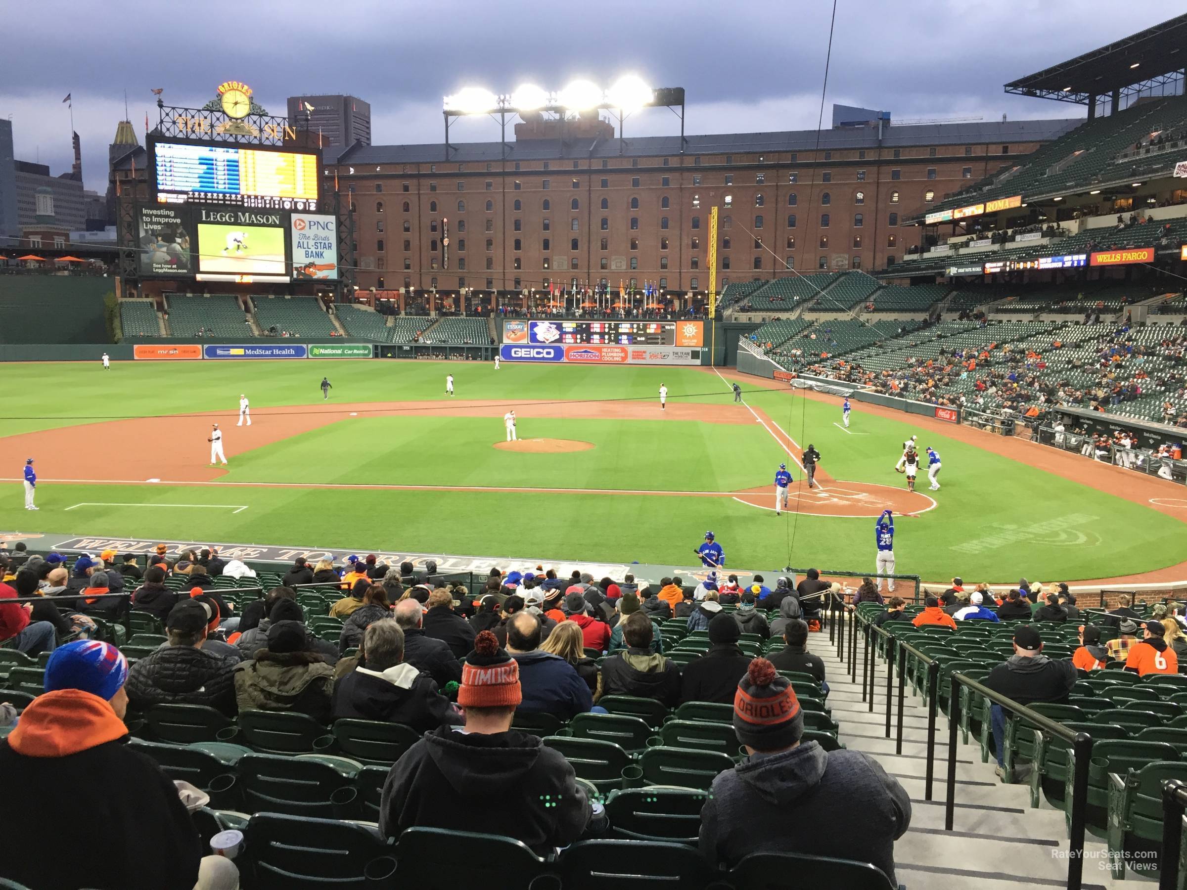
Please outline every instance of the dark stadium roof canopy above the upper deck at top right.
[[1005, 84], [1005, 91], [1077, 104], [1113, 90], [1124, 98], [1180, 80], [1187, 66], [1185, 50], [1187, 14], [1020, 77]]

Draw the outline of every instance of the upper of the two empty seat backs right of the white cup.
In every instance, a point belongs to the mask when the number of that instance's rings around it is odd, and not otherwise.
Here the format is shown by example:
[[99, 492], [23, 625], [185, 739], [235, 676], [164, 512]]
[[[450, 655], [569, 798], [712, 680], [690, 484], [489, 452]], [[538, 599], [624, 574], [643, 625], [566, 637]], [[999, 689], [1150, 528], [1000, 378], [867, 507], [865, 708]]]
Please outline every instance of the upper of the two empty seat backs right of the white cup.
[[348, 819], [358, 812], [355, 777], [318, 761], [248, 754], [235, 773], [247, 813]]

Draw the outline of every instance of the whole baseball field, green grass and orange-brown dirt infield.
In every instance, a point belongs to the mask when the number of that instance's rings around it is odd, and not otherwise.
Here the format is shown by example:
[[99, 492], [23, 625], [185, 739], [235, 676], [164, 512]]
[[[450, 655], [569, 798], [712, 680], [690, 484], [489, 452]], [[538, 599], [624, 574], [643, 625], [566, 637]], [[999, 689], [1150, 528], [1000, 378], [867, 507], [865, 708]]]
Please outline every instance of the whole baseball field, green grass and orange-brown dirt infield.
[[[0, 368], [4, 532], [679, 565], [712, 529], [728, 566], [864, 572], [874, 517], [890, 507], [897, 571], [925, 580], [1187, 577], [1181, 485], [858, 402], [846, 431], [839, 400], [769, 381], [737, 377], [735, 403], [729, 371], [367, 360]], [[250, 426], [236, 425], [241, 393]], [[508, 411], [520, 439], [510, 446]], [[227, 468], [209, 465], [215, 422]], [[894, 471], [912, 434], [942, 457], [939, 491], [921, 473], [909, 495]], [[823, 456], [812, 490], [796, 465], [810, 443]], [[23, 509], [27, 457], [37, 513]], [[795, 483], [776, 516], [783, 462]]]

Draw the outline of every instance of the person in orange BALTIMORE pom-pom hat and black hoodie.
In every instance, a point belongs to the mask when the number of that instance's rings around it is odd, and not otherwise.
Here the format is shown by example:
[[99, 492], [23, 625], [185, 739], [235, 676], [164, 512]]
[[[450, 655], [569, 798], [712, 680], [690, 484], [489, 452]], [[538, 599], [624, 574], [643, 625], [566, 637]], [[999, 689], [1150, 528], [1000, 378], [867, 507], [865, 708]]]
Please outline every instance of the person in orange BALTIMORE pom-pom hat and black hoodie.
[[[516, 615], [509, 636], [528, 621], [535, 618]], [[522, 662], [488, 631], [474, 646], [458, 691], [465, 729], [439, 727], [396, 761], [380, 799], [380, 831], [389, 838], [411, 826], [491, 832], [551, 854], [582, 837], [594, 809], [564, 756], [512, 729]]]

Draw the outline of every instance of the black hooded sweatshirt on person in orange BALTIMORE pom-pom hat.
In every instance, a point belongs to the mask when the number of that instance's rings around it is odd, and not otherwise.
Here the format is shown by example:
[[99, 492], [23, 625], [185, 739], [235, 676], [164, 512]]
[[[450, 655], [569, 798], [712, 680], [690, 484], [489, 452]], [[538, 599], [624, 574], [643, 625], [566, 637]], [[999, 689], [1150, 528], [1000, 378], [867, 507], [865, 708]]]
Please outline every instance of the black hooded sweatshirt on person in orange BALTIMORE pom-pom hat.
[[573, 768], [535, 736], [442, 727], [392, 768], [379, 827], [389, 838], [411, 826], [489, 832], [550, 854], [577, 840], [590, 815]]

